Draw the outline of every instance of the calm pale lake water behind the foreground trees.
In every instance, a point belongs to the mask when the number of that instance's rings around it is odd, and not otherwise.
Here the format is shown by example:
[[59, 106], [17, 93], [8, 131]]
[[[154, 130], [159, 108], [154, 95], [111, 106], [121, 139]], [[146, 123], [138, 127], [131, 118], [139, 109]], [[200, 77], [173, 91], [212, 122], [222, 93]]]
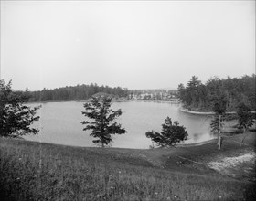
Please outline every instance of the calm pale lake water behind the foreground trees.
[[[33, 124], [40, 130], [38, 135], [27, 136], [26, 139], [45, 143], [60, 143], [75, 146], [93, 146], [90, 131], [82, 131], [80, 123], [85, 119], [81, 111], [82, 102], [48, 102], [40, 103], [38, 111], [40, 120]], [[36, 106], [38, 104], [29, 104]], [[206, 116], [187, 114], [178, 110], [178, 105], [166, 102], [114, 102], [112, 108], [123, 111], [117, 122], [122, 123], [127, 133], [112, 135], [112, 147], [148, 148], [150, 139], [145, 132], [160, 132], [165, 118], [169, 116], [187, 128], [189, 140], [186, 143], [197, 143], [213, 138], [210, 135], [209, 122]]]

